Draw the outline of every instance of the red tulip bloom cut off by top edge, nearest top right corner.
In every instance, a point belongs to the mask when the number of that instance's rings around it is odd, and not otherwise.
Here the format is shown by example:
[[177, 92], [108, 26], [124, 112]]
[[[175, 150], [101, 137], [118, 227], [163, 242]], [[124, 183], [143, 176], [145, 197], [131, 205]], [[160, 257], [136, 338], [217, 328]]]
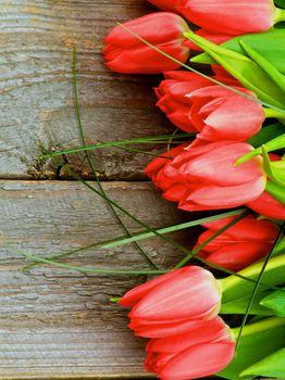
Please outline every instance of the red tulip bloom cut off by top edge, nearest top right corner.
[[273, 0], [184, 0], [176, 9], [206, 30], [232, 36], [268, 30], [285, 18]]

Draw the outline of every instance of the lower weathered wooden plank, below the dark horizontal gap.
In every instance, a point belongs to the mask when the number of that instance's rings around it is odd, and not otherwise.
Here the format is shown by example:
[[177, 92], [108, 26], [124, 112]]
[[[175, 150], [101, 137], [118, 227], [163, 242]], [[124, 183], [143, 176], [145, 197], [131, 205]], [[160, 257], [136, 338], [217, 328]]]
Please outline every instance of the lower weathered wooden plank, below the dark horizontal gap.
[[[152, 227], [185, 221], [189, 214], [158, 197], [149, 183], [108, 182], [108, 195]], [[84, 274], [35, 267], [11, 250], [51, 255], [121, 236], [104, 202], [77, 182], [0, 183], [0, 379], [128, 377], [145, 372], [144, 341], [127, 330], [127, 311], [109, 302], [145, 276]], [[129, 229], [140, 228], [124, 218]], [[189, 242], [190, 232], [176, 235]], [[157, 265], [169, 267], [182, 254], [160, 239], [141, 246]], [[101, 268], [150, 268], [133, 245], [92, 249], [65, 259]]]

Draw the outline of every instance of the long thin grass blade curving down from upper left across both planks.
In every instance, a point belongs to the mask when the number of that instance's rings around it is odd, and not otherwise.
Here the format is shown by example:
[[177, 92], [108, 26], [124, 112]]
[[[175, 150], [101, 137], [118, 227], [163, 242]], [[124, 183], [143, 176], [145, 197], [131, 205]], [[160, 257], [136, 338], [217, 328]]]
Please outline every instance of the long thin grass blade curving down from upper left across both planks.
[[[82, 115], [80, 115], [80, 109], [79, 109], [79, 101], [78, 101], [78, 91], [77, 91], [77, 51], [76, 47], [73, 49], [73, 89], [74, 89], [74, 104], [75, 104], [75, 113], [77, 117], [78, 128], [80, 138], [83, 141], [84, 147], [86, 147], [86, 140], [83, 131], [83, 123], [82, 123]], [[91, 157], [90, 153], [86, 152], [87, 161], [90, 166], [90, 169], [96, 178], [96, 182], [103, 195], [107, 195], [104, 192], [104, 189], [101, 185], [101, 181], [99, 180], [99, 177], [97, 176], [97, 164], [95, 159]], [[127, 236], [132, 237], [132, 233], [126, 228], [125, 224], [121, 219], [121, 217], [117, 215], [115, 208], [113, 205], [109, 202], [108, 197], [106, 197], [106, 202], [108, 203], [116, 223], [121, 226], [121, 228], [127, 233]], [[139, 254], [147, 261], [149, 265], [151, 265], [153, 268], [159, 269], [158, 265], [152, 261], [152, 258], [138, 245], [138, 243], [133, 243], [134, 248], [139, 252]]]

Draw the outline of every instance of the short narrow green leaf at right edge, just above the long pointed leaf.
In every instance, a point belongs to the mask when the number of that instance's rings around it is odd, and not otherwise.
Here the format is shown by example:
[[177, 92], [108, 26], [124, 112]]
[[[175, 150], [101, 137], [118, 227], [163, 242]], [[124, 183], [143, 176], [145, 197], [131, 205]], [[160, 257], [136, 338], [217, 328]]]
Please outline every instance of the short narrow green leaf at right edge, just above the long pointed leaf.
[[239, 40], [239, 45], [245, 50], [247, 55], [268, 74], [268, 76], [275, 83], [275, 85], [277, 85], [283, 91], [285, 91], [285, 76], [281, 74], [281, 72], [278, 72], [277, 68], [273, 66], [262, 54], [257, 52], [245, 41]]

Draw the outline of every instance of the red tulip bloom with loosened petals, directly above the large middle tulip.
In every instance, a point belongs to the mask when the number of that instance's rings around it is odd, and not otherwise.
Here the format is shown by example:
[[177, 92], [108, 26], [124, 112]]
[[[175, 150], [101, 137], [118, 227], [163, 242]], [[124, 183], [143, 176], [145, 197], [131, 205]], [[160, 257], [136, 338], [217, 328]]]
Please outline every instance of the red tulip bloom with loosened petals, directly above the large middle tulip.
[[[156, 88], [157, 105], [178, 128], [199, 131], [197, 138], [202, 141], [246, 141], [260, 130], [265, 118], [260, 103], [195, 73], [164, 75], [166, 79]], [[213, 79], [256, 97], [228, 75], [218, 74]]]

